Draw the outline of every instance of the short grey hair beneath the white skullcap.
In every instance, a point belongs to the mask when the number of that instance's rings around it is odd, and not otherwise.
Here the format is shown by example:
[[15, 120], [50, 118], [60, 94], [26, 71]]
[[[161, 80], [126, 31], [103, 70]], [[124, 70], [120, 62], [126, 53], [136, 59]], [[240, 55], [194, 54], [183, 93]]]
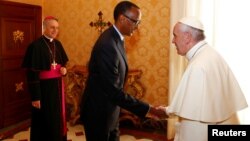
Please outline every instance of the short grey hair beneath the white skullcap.
[[189, 32], [192, 35], [193, 39], [197, 42], [205, 39], [205, 35], [204, 35], [203, 30], [191, 27], [191, 26], [183, 24], [183, 23], [181, 23], [180, 30], [182, 32]]

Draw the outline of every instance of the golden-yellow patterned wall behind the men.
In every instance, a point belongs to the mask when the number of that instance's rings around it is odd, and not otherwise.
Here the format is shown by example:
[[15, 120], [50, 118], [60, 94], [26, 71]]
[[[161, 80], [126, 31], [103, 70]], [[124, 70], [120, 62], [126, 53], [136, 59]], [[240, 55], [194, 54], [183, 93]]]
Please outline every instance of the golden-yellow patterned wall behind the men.
[[[113, 23], [113, 9], [119, 0], [10, 0], [40, 5], [43, 17], [59, 18], [59, 39], [69, 56], [69, 67], [86, 65], [99, 34], [89, 26], [101, 10]], [[144, 100], [160, 105], [168, 102], [170, 0], [131, 0], [142, 10], [142, 22], [134, 36], [126, 38], [131, 69], [142, 69], [146, 87]]]

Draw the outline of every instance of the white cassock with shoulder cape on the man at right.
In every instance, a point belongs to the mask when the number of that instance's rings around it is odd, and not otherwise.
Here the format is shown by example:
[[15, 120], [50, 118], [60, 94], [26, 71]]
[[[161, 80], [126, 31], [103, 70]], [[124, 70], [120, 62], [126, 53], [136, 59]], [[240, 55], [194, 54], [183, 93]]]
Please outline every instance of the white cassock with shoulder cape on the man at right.
[[182, 119], [175, 141], [206, 141], [208, 124], [237, 124], [230, 118], [247, 102], [228, 64], [205, 41], [186, 57], [188, 66], [167, 112]]

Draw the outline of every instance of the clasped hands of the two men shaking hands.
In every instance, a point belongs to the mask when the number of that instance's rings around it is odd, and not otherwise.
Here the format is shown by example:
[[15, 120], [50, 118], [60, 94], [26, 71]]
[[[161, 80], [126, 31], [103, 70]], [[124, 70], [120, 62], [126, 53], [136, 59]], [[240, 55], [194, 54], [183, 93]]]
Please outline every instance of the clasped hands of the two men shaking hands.
[[168, 118], [167, 107], [165, 106], [150, 106], [147, 117], [153, 119], [166, 119]]

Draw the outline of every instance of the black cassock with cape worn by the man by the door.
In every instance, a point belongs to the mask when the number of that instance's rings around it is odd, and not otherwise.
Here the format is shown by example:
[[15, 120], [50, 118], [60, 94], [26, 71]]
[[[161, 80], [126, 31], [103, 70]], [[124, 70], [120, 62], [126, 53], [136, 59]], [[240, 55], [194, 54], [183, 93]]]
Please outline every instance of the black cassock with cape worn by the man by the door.
[[32, 101], [40, 100], [41, 109], [32, 107], [30, 141], [65, 141], [62, 116], [62, 77], [40, 79], [49, 71], [53, 60], [65, 66], [68, 57], [60, 41], [49, 42], [41, 36], [32, 42], [24, 56], [22, 67], [27, 69], [27, 81]]

